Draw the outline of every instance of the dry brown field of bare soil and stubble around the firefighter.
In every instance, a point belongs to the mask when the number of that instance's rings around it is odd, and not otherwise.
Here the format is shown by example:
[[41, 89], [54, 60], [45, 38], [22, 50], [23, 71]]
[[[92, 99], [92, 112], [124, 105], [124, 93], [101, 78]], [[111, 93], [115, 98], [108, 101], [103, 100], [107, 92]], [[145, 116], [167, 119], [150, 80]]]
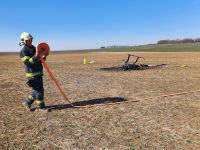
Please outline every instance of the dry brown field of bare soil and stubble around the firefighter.
[[[72, 108], [45, 72], [50, 110], [27, 111], [30, 94], [17, 54], [0, 54], [0, 149], [197, 150], [200, 149], [200, 53], [134, 53], [158, 69], [102, 71], [126, 60], [122, 52], [50, 54], [47, 63]], [[83, 64], [83, 59], [94, 64]], [[152, 99], [145, 99], [155, 97]], [[134, 101], [117, 104], [118, 101]], [[116, 105], [99, 105], [113, 102]]]

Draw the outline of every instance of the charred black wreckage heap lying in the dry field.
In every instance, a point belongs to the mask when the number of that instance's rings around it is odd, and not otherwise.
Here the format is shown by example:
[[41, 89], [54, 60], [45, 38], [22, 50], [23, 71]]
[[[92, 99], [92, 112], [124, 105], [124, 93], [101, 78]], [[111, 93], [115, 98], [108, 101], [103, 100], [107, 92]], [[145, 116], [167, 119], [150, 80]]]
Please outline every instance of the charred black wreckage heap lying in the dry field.
[[[134, 58], [134, 61], [132, 63], [130, 63], [129, 61], [130, 57]], [[151, 65], [136, 64], [139, 59], [145, 60], [145, 58], [143, 57], [128, 54], [127, 60], [122, 62], [121, 64], [113, 66], [113, 67], [108, 67], [108, 68], [100, 68], [100, 70], [105, 70], [105, 71], [145, 70], [145, 69], [159, 68], [159, 67], [167, 65], [167, 64], [151, 64]]]

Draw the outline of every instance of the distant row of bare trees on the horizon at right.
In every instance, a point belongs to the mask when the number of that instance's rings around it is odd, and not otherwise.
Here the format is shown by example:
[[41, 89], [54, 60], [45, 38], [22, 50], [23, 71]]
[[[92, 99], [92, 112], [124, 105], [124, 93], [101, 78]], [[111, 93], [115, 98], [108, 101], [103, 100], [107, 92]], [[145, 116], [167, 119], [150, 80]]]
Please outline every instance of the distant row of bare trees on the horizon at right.
[[176, 39], [176, 40], [160, 40], [157, 44], [177, 44], [177, 43], [200, 43], [200, 38], [192, 39]]

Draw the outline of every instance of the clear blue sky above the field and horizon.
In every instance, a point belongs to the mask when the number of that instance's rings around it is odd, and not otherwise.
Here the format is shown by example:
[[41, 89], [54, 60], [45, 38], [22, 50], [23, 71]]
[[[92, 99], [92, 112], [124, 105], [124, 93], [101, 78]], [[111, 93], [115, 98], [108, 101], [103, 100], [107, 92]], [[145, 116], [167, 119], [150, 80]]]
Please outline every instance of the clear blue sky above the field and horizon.
[[200, 37], [200, 0], [1, 0], [0, 18], [0, 51], [24, 31], [52, 50]]

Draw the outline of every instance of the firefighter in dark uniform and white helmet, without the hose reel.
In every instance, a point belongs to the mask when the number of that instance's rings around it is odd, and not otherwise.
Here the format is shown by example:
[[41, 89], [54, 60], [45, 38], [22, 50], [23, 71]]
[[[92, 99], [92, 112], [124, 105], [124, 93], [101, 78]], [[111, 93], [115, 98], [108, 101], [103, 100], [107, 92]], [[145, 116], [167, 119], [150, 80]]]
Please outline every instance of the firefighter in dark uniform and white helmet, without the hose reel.
[[[40, 53], [36, 51], [35, 46], [32, 45], [33, 36], [27, 32], [21, 34], [20, 46], [23, 48], [20, 51], [21, 61], [24, 63], [25, 76], [27, 78], [27, 85], [32, 88], [32, 94], [29, 95], [23, 105], [31, 110], [31, 105], [36, 102], [38, 108], [45, 109], [44, 103], [44, 88], [43, 88], [43, 66], [40, 61]], [[46, 59], [46, 56], [43, 57]]]

